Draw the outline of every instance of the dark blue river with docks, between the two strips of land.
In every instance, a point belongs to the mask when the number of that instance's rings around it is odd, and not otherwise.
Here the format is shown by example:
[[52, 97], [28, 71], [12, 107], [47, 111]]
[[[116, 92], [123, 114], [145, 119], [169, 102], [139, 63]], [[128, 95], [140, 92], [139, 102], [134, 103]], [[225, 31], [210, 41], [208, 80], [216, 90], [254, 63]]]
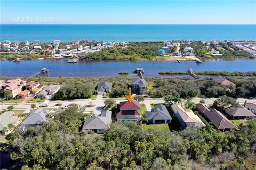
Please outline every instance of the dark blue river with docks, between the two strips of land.
[[[50, 77], [117, 77], [121, 71], [129, 72], [125, 77], [135, 77], [133, 70], [140, 67], [145, 70], [145, 77], [177, 77], [177, 75], [159, 75], [161, 71], [256, 71], [256, 60], [205, 61], [78, 61], [68, 63], [64, 60], [30, 60], [14, 63], [0, 61], [0, 75], [5, 77], [29, 77], [42, 68], [49, 69]], [[179, 77], [188, 77], [179, 75]]]

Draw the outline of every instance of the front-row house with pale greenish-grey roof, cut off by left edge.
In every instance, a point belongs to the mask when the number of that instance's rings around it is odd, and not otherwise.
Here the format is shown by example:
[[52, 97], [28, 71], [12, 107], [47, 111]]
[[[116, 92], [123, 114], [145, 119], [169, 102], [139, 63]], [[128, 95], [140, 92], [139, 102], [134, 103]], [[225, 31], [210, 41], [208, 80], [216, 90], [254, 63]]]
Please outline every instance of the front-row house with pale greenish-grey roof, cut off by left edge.
[[0, 135], [9, 134], [11, 131], [4, 131], [4, 128], [8, 128], [9, 124], [17, 125], [21, 118], [15, 116], [14, 112], [4, 112], [0, 115]]

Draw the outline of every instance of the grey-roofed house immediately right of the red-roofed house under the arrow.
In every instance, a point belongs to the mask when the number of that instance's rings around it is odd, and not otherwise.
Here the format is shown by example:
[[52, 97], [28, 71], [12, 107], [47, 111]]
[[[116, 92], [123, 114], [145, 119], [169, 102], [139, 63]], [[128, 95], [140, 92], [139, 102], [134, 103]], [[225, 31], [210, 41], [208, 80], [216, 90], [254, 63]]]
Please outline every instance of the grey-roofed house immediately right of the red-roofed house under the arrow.
[[172, 117], [164, 105], [156, 105], [151, 112], [146, 111], [147, 123], [162, 124], [171, 123]]

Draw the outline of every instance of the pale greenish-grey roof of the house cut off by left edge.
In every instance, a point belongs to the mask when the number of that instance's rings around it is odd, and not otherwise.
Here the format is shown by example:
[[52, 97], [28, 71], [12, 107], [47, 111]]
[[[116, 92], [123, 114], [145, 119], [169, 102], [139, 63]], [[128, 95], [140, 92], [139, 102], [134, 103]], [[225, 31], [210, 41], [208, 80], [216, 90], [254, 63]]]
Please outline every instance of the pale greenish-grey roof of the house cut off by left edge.
[[2, 131], [5, 127], [7, 128], [8, 124], [13, 123], [16, 124], [19, 122], [21, 118], [14, 115], [14, 112], [4, 112], [0, 115], [0, 131]]

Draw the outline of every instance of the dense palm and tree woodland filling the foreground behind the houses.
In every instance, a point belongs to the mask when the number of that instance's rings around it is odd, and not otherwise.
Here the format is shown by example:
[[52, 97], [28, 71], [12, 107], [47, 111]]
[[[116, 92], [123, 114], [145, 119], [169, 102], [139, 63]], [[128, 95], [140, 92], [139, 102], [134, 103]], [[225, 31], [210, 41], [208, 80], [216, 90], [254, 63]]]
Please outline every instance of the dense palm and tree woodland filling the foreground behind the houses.
[[[254, 169], [256, 121], [220, 132], [170, 131], [136, 122], [113, 123], [105, 134], [81, 131], [85, 113], [77, 105], [42, 126], [6, 136], [18, 169]], [[244, 135], [250, 134], [250, 135]], [[243, 160], [243, 161], [242, 161]]]

